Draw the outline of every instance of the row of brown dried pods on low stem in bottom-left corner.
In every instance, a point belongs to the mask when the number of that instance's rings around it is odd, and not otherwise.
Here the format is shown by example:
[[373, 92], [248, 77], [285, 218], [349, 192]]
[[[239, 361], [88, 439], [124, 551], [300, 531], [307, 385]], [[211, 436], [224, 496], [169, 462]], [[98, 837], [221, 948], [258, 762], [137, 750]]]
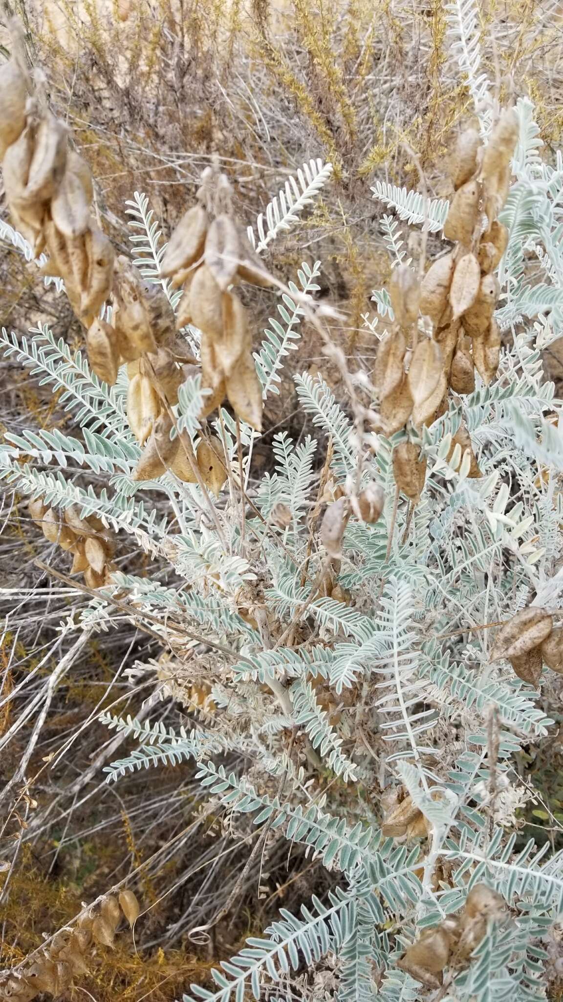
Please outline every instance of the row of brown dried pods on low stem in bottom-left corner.
[[59, 930], [34, 959], [0, 978], [2, 998], [31, 1002], [40, 992], [62, 996], [76, 978], [89, 973], [96, 946], [113, 947], [121, 918], [132, 927], [139, 911], [132, 891], [120, 891], [118, 898], [104, 895], [82, 913], [76, 928]]

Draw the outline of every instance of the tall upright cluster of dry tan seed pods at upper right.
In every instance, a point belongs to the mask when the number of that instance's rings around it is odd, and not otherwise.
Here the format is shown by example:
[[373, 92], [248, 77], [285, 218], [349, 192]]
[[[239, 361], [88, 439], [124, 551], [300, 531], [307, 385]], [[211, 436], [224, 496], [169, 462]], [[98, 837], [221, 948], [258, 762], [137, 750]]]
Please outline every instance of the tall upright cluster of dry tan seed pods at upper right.
[[[455, 193], [444, 235], [455, 242], [419, 282], [406, 265], [392, 277], [389, 294], [394, 327], [381, 342], [374, 370], [379, 397], [374, 430], [387, 437], [405, 429], [415, 437], [447, 410], [448, 394], [475, 390], [475, 372], [489, 385], [500, 356], [494, 320], [499, 284], [493, 275], [508, 242], [497, 215], [510, 183], [511, 157], [518, 139], [514, 110], [504, 111], [484, 146], [474, 129], [461, 133], [451, 165]], [[419, 318], [432, 325], [428, 337]], [[470, 456], [470, 477], [480, 477], [471, 439], [462, 427], [453, 440]], [[400, 489], [416, 503], [424, 487], [420, 447], [403, 442], [394, 451]]]

